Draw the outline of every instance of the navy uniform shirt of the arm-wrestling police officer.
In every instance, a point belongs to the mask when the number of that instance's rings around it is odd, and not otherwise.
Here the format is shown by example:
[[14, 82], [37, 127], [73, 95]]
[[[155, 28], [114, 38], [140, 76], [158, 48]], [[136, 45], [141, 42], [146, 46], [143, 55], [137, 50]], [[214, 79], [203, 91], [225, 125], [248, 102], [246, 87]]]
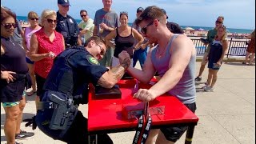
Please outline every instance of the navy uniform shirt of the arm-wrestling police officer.
[[[73, 48], [74, 47], [70, 47], [70, 49]], [[62, 58], [61, 56], [62, 53], [70, 49], [64, 50], [57, 58], [54, 59], [54, 66], [52, 66], [52, 69], [46, 78], [44, 90], [58, 91], [58, 83], [63, 78], [63, 71], [68, 71], [71, 68], [72, 75], [70, 77], [73, 79], [73, 84], [69, 83], [69, 85], [70, 87], [74, 86], [72, 95], [75, 99], [79, 99], [80, 97], [87, 99], [89, 83], [91, 82], [96, 85], [98, 79], [102, 77], [102, 74], [109, 69], [105, 66], [100, 66], [97, 59], [94, 58], [84, 47], [79, 48], [80, 50], [78, 50], [78, 52], [67, 58], [68, 62], [66, 62], [65, 58]], [[66, 65], [70, 66], [70, 68]], [[76, 96], [78, 96], [78, 98], [76, 98]]]

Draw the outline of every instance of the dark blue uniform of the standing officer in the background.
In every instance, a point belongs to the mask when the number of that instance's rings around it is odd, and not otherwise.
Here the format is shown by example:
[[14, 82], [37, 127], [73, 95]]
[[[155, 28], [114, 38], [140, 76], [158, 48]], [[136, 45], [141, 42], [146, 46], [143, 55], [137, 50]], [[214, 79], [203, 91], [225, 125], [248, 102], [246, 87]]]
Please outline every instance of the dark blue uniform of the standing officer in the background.
[[78, 46], [78, 23], [70, 15], [63, 17], [57, 12], [56, 30], [63, 35], [66, 47]]

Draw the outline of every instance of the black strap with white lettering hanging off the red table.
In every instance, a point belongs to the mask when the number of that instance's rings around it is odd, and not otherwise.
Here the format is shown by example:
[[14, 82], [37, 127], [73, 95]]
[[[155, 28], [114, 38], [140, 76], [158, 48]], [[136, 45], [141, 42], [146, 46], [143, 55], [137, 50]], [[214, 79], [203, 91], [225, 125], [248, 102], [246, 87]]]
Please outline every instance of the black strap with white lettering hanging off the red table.
[[138, 119], [138, 126], [134, 136], [133, 144], [144, 144], [150, 133], [152, 118], [148, 112], [149, 102], [144, 104], [144, 112]]

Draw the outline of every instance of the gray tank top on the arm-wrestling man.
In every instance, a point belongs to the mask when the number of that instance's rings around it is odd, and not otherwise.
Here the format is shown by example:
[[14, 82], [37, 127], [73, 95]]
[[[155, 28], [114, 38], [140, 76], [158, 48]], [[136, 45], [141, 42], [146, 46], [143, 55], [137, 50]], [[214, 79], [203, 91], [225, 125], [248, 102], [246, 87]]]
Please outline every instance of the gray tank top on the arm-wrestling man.
[[[180, 34], [174, 34], [174, 36], [170, 39], [166, 47], [166, 53], [162, 56], [162, 58], [156, 57], [156, 52], [158, 50], [158, 46], [152, 50], [151, 53], [151, 61], [154, 65], [154, 68], [157, 70], [159, 76], [163, 76], [166, 74], [166, 71], [169, 70], [169, 62], [170, 62], [170, 48], [175, 49], [175, 47], [170, 47], [171, 42], [175, 38], [177, 38]], [[182, 103], [190, 104], [195, 102], [196, 98], [196, 90], [194, 84], [194, 77], [195, 77], [195, 62], [196, 62], [196, 55], [192, 55], [190, 58], [189, 64], [186, 66], [186, 70], [182, 75], [182, 78], [177, 83], [174, 88], [172, 88], [168, 93], [170, 95], [176, 96]]]

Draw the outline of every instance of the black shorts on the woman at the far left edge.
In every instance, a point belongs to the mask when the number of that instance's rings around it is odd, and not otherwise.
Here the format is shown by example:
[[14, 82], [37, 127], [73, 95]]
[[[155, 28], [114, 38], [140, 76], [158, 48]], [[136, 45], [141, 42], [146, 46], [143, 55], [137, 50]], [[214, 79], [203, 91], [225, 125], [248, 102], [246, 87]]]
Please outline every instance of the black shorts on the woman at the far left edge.
[[26, 79], [15, 80], [7, 83], [5, 79], [0, 80], [1, 102], [19, 102], [25, 90]]

